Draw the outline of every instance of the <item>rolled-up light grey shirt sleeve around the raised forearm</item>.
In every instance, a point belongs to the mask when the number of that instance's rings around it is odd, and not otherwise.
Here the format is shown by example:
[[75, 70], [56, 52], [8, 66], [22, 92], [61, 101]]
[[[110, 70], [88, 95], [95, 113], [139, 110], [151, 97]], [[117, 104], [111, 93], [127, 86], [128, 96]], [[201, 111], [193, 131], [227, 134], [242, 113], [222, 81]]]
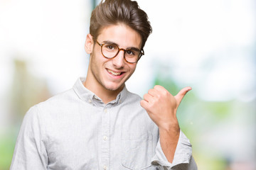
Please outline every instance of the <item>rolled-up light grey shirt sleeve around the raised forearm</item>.
[[196, 170], [196, 162], [192, 157], [192, 145], [186, 135], [180, 131], [178, 144], [174, 154], [172, 163], [168, 162], [163, 150], [161, 149], [160, 141], [156, 145], [156, 154], [151, 160], [151, 164], [157, 166], [159, 169], [182, 169], [182, 170]]

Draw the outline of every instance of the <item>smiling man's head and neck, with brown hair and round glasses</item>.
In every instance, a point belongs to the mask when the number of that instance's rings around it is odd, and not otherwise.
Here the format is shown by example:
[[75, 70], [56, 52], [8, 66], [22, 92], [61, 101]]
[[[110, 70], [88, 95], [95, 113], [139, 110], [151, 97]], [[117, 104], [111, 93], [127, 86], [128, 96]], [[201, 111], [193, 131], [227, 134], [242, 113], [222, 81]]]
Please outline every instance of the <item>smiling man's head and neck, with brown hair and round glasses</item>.
[[114, 99], [134, 73], [150, 33], [146, 13], [137, 2], [101, 2], [92, 11], [85, 41], [85, 51], [90, 54], [85, 87], [106, 103]]

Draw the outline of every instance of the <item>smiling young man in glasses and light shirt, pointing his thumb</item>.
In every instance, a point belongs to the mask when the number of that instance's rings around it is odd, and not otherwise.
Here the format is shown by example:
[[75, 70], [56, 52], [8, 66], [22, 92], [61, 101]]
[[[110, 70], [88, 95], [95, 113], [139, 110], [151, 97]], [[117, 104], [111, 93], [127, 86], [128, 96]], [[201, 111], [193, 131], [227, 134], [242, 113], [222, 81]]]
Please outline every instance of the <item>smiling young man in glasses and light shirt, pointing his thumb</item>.
[[85, 42], [87, 77], [26, 113], [11, 169], [197, 169], [176, 118], [191, 88], [172, 96], [155, 86], [142, 100], [125, 87], [150, 33], [136, 1], [101, 2]]

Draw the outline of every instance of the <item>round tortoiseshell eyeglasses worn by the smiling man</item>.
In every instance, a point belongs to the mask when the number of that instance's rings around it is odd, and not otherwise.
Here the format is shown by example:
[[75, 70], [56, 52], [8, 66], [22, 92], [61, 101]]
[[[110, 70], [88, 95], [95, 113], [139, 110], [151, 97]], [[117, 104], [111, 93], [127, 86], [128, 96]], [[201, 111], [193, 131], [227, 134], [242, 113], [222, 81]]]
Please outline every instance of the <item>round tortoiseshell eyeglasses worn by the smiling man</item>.
[[119, 53], [119, 51], [124, 51], [124, 60], [128, 63], [136, 63], [139, 61], [139, 59], [144, 55], [144, 50], [139, 50], [137, 48], [128, 48], [127, 50], [124, 50], [123, 48], [119, 48], [118, 45], [114, 43], [104, 43], [100, 44], [96, 40], [97, 44], [101, 47], [102, 55], [107, 59], [112, 59], [116, 57]]

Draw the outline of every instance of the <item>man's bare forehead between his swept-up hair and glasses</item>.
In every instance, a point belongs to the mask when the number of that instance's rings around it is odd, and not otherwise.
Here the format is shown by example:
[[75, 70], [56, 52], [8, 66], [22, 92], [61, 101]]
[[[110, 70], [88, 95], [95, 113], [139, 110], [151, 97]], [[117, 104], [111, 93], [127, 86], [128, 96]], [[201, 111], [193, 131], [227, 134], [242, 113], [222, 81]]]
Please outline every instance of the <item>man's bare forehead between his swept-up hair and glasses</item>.
[[106, 26], [100, 30], [97, 40], [114, 42], [119, 47], [142, 47], [142, 36], [125, 24]]

